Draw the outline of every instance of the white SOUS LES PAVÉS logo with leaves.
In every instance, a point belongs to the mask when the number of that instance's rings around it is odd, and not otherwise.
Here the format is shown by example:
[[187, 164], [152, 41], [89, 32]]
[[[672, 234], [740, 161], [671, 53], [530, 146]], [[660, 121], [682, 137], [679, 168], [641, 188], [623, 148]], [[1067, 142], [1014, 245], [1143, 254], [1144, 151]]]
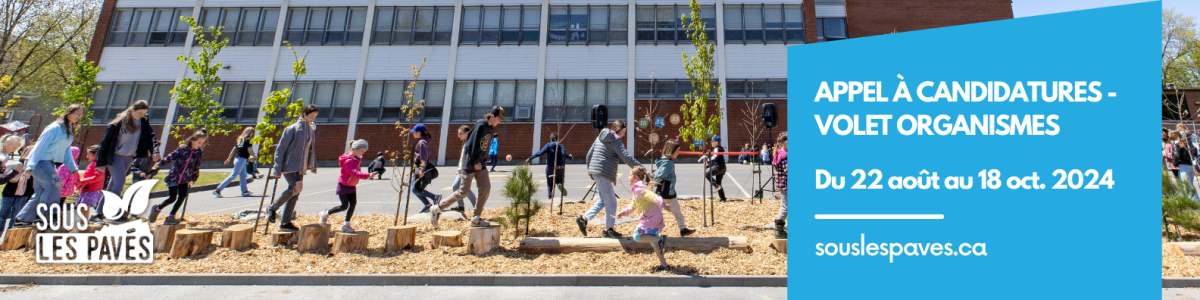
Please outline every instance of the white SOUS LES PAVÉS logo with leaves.
[[[158, 180], [142, 180], [125, 190], [125, 197], [102, 191], [104, 205], [98, 212], [108, 220], [118, 220], [128, 211], [131, 215], [145, 212], [150, 204], [150, 190]], [[66, 204], [38, 204], [41, 222], [38, 230], [88, 229], [83, 217], [84, 206]], [[47, 211], [49, 216], [42, 215]], [[137, 220], [121, 224], [106, 224], [95, 233], [43, 233], [37, 234], [37, 263], [118, 263], [148, 264], [154, 260], [154, 234], [150, 224]]]

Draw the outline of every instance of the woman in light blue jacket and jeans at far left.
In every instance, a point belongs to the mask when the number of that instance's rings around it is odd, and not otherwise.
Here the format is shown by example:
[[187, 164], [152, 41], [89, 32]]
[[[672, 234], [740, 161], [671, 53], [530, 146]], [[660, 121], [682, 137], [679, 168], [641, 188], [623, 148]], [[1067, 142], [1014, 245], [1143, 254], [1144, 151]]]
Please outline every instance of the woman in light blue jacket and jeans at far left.
[[34, 170], [34, 198], [25, 203], [17, 218], [24, 224], [37, 221], [38, 215], [49, 215], [49, 211], [38, 214], [38, 204], [59, 203], [62, 193], [62, 178], [59, 178], [55, 162], [62, 163], [70, 172], [79, 172], [79, 166], [71, 158], [71, 143], [74, 143], [74, 128], [83, 118], [84, 107], [71, 104], [59, 119], [46, 126], [42, 134], [37, 137], [37, 143], [29, 151], [25, 161], [25, 169]]

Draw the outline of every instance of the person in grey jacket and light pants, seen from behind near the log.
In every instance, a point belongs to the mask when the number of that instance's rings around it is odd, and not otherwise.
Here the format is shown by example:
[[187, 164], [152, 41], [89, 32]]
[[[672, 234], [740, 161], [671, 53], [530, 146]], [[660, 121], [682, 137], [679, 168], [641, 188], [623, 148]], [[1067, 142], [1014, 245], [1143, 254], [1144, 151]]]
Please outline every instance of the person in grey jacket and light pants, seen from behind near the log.
[[580, 233], [583, 236], [588, 235], [588, 220], [595, 217], [602, 208], [605, 210], [605, 230], [601, 235], [612, 239], [622, 238], [613, 229], [617, 223], [617, 193], [612, 186], [613, 182], [617, 182], [617, 163], [619, 160], [629, 164], [630, 168], [642, 166], [625, 150], [625, 143], [620, 142], [620, 136], [624, 134], [625, 121], [616, 120], [610, 128], [600, 131], [600, 136], [596, 136], [596, 140], [592, 142], [592, 148], [588, 149], [587, 158], [584, 158], [588, 162], [588, 176], [596, 181], [596, 193], [600, 194], [600, 200], [582, 216], [575, 217], [575, 223], [580, 226]]

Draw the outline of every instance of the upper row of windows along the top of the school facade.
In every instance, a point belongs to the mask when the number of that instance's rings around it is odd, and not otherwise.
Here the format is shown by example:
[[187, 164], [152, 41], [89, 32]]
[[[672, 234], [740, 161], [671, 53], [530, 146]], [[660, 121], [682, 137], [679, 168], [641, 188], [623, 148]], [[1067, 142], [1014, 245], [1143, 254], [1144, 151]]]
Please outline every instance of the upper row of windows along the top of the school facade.
[[[636, 8], [637, 43], [688, 43], [688, 26], [680, 16], [690, 16], [686, 5], [647, 5]], [[180, 16], [190, 8], [118, 10], [106, 46], [182, 46], [187, 24]], [[617, 5], [551, 6], [547, 43], [625, 44], [629, 8]], [[205, 8], [200, 24], [224, 26], [230, 46], [274, 43], [278, 8]], [[716, 40], [716, 12], [701, 6], [706, 34]], [[372, 26], [372, 44], [449, 44], [454, 31], [454, 7], [378, 7]], [[288, 10], [284, 41], [305, 46], [362, 44], [366, 30], [365, 7], [299, 7]], [[540, 38], [540, 6], [463, 7], [461, 44], [536, 44]], [[817, 19], [817, 41], [846, 38], [845, 18]], [[727, 43], [804, 43], [800, 5], [726, 5]]]

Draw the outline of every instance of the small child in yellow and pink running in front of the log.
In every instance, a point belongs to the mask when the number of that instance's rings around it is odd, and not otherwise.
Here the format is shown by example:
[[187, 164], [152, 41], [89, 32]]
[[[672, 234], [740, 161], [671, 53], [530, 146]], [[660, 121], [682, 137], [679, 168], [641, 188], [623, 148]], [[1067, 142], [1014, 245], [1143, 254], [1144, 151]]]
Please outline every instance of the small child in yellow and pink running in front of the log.
[[659, 266], [655, 266], [652, 271], [666, 271], [671, 269], [667, 265], [667, 259], [662, 257], [666, 236], [660, 234], [662, 227], [665, 227], [662, 223], [662, 206], [666, 203], [662, 202], [662, 198], [654, 194], [655, 184], [650, 181], [650, 185], [647, 186], [647, 181], [644, 167], [636, 166], [629, 170], [629, 185], [634, 187], [634, 199], [617, 216], [625, 216], [632, 212], [641, 215], [641, 218], [637, 220], [637, 229], [634, 232], [634, 241], [649, 241], [650, 246], [654, 247], [654, 254], [659, 256]]

